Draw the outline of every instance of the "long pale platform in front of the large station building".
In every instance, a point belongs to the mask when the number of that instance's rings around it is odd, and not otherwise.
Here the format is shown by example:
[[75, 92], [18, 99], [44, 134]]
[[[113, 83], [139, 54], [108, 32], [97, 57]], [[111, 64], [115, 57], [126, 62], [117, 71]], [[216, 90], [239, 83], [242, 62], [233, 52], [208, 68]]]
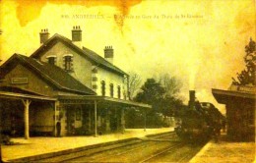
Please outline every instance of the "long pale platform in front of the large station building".
[[102, 136], [36, 136], [11, 138], [14, 145], [1, 145], [2, 161], [31, 157], [46, 153], [75, 149], [83, 146], [122, 140], [132, 137], [144, 137], [174, 131], [174, 128], [160, 129], [126, 129], [124, 134], [109, 134]]

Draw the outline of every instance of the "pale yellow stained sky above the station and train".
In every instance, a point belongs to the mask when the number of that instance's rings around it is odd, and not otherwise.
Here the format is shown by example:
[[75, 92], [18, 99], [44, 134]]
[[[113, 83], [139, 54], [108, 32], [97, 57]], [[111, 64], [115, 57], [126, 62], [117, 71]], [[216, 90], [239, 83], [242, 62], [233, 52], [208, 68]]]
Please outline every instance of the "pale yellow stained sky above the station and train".
[[214, 103], [212, 88], [227, 89], [244, 69], [244, 46], [255, 40], [254, 0], [0, 0], [0, 59], [30, 56], [39, 31], [71, 38], [83, 30], [83, 45], [103, 56], [114, 48], [114, 64], [143, 80], [162, 74], [182, 81], [180, 95], [195, 89]]

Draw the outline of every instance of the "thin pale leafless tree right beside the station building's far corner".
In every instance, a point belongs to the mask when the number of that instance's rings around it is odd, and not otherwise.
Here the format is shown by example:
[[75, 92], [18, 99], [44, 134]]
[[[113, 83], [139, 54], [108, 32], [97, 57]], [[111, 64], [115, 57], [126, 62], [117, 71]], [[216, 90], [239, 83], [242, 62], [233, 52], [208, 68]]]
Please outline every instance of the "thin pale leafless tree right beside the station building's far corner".
[[133, 99], [136, 95], [136, 92], [139, 90], [141, 86], [142, 79], [141, 77], [133, 72], [129, 73], [129, 81], [128, 81], [128, 87], [129, 87], [129, 99]]

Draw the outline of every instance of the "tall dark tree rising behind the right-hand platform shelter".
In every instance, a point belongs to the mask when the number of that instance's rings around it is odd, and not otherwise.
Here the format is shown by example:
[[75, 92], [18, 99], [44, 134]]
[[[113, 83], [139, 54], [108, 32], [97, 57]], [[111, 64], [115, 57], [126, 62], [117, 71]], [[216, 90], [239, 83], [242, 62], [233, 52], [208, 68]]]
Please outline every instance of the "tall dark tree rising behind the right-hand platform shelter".
[[252, 38], [250, 38], [249, 44], [245, 46], [245, 53], [244, 62], [246, 68], [240, 74], [237, 73], [238, 81], [232, 78], [232, 83], [237, 85], [256, 85], [256, 43]]

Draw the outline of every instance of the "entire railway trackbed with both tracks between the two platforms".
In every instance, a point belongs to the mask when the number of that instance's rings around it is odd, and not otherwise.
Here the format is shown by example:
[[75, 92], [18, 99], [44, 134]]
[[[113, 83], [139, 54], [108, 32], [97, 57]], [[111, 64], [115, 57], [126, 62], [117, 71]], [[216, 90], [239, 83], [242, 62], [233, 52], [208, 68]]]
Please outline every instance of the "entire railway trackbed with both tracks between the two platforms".
[[188, 162], [203, 146], [181, 142], [176, 137], [169, 132], [17, 162]]

